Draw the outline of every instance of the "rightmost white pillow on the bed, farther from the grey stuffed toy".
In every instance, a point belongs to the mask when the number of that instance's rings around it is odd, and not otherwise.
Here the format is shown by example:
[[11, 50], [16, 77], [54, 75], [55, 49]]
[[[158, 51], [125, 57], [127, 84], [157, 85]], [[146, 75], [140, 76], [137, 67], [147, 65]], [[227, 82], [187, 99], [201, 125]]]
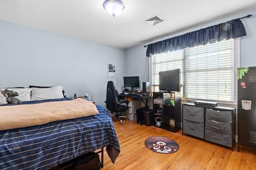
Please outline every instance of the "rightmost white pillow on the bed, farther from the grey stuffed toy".
[[35, 88], [32, 87], [31, 101], [35, 100], [48, 100], [64, 98], [62, 93], [62, 86], [54, 86], [49, 88]]

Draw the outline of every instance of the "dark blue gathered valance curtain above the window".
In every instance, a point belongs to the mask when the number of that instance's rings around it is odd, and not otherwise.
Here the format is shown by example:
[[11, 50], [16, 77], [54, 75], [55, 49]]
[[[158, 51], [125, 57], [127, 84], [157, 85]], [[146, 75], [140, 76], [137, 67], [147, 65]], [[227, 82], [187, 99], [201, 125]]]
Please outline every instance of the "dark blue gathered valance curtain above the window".
[[180, 35], [165, 39], [148, 45], [146, 56], [166, 53], [175, 50], [181, 50], [186, 47], [195, 47], [198, 45], [206, 45], [207, 43], [215, 43], [224, 39], [237, 38], [246, 35], [244, 25], [240, 18], [230, 20], [225, 23], [213, 25]]

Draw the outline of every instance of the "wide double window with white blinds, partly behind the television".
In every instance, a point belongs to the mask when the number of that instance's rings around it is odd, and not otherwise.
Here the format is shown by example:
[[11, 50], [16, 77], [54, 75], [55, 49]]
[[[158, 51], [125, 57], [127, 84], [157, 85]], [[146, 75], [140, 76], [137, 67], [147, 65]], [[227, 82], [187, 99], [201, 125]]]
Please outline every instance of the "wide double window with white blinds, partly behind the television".
[[185, 98], [234, 102], [234, 39], [151, 57], [153, 86], [158, 72], [180, 68]]

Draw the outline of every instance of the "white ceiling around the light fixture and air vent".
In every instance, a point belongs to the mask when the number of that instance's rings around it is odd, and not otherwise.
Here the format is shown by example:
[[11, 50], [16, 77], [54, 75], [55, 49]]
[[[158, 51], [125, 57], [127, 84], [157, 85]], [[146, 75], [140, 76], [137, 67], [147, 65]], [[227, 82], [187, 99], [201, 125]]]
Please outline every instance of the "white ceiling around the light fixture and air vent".
[[[256, 8], [256, 0], [123, 0], [124, 10], [113, 18], [103, 2], [0, 0], [0, 20], [128, 49]], [[144, 22], [154, 14], [164, 22]]]

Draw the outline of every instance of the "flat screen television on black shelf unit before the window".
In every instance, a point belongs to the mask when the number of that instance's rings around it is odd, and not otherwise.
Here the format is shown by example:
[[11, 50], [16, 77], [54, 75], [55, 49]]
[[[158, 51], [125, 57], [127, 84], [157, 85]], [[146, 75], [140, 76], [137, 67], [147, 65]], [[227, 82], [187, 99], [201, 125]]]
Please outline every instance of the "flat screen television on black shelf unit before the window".
[[159, 72], [159, 90], [163, 92], [180, 92], [180, 69]]

